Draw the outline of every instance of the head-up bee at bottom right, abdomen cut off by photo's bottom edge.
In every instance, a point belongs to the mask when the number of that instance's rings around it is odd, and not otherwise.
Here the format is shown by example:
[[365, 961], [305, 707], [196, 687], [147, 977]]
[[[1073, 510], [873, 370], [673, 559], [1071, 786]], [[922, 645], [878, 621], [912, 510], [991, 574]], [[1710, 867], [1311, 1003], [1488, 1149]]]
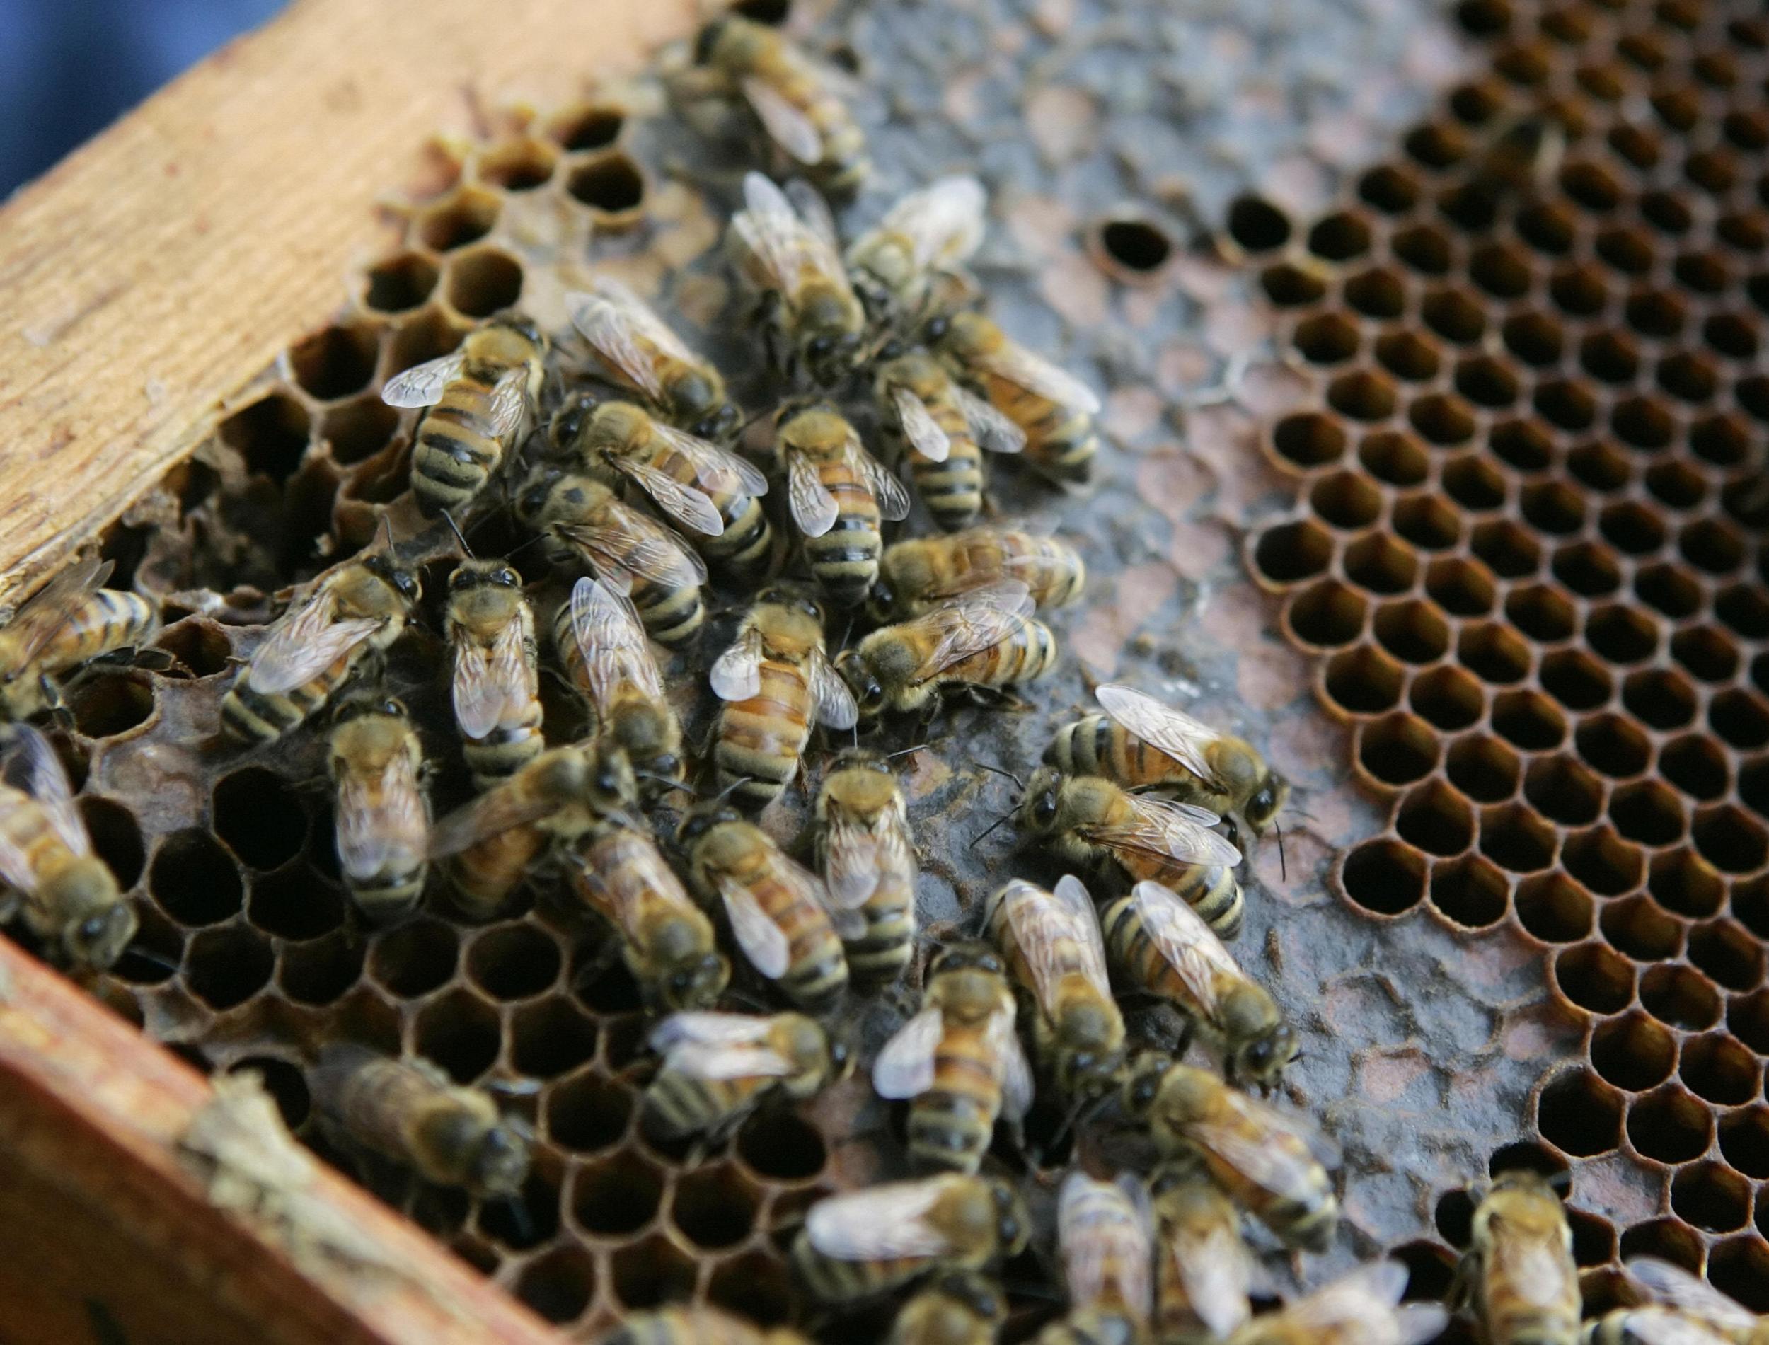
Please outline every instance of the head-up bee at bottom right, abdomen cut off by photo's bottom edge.
[[1463, 1274], [1491, 1345], [1576, 1345], [1583, 1299], [1573, 1230], [1537, 1172], [1504, 1172], [1474, 1210]]

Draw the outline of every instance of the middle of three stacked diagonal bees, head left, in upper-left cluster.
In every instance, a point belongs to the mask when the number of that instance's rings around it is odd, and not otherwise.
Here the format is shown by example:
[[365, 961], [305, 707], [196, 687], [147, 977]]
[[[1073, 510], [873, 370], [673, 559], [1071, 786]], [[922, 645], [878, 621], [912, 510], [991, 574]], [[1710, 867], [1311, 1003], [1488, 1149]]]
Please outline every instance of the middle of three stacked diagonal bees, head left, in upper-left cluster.
[[586, 393], [566, 398], [548, 434], [586, 471], [607, 469], [644, 490], [708, 559], [734, 573], [771, 559], [773, 531], [759, 503], [768, 478], [736, 453], [656, 421], [640, 405]]

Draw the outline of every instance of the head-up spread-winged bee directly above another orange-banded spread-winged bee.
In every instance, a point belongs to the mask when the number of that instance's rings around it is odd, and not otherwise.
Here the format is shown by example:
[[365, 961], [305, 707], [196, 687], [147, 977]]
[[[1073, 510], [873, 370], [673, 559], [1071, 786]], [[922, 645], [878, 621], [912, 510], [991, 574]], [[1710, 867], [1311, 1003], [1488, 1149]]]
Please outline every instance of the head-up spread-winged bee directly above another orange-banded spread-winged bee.
[[830, 407], [801, 411], [780, 427], [775, 451], [785, 467], [787, 504], [805, 536], [817, 584], [851, 607], [879, 573], [881, 519], [904, 519], [909, 496]]

